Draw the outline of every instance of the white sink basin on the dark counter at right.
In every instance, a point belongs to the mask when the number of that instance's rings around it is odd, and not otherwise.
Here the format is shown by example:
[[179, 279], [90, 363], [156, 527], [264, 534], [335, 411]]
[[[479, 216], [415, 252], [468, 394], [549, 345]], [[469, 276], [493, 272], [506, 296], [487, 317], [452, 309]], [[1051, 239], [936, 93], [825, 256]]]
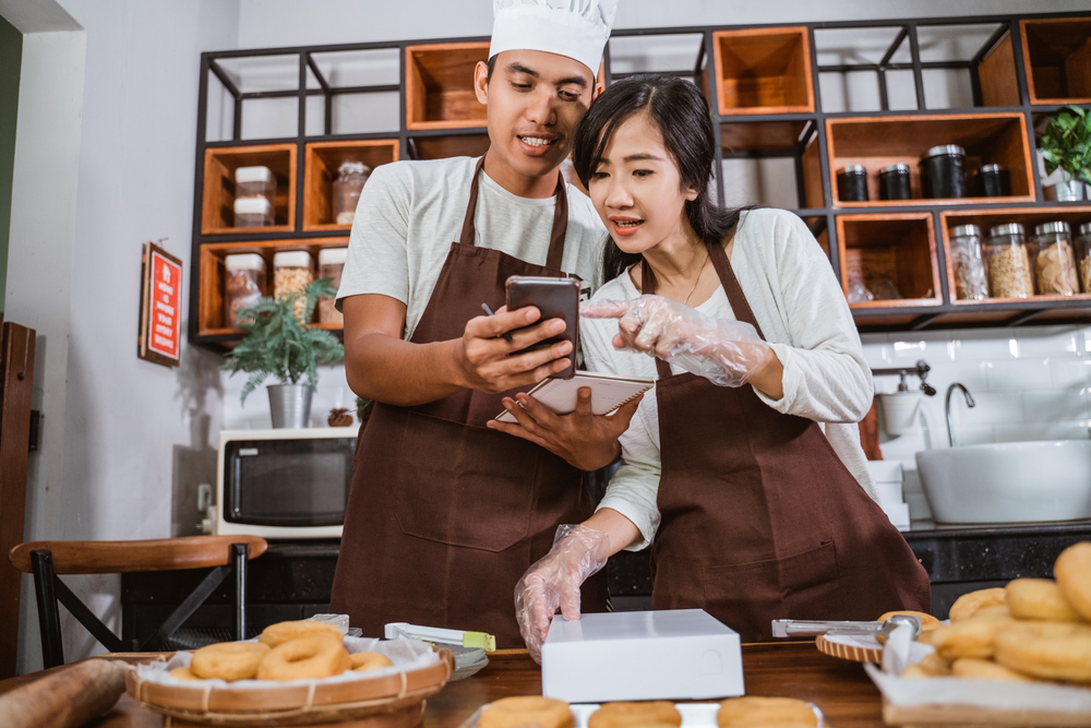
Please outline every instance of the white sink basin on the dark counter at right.
[[1091, 440], [925, 450], [916, 467], [937, 523], [1091, 518]]

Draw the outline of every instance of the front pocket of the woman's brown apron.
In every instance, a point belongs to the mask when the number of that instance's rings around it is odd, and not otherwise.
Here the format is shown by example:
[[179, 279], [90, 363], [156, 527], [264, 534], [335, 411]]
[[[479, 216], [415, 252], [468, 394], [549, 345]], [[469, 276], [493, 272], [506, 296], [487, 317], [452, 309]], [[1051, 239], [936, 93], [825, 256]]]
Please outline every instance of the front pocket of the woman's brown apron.
[[832, 619], [842, 611], [832, 540], [783, 559], [702, 571], [706, 609], [741, 634], [768, 635], [774, 619]]

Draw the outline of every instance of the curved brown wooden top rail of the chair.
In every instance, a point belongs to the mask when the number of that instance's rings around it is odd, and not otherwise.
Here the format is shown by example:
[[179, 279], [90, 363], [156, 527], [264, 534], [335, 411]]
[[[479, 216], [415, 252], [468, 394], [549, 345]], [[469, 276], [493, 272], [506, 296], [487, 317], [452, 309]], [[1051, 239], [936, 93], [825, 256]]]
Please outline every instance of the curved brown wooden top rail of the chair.
[[28, 541], [8, 554], [15, 569], [32, 573], [31, 553], [49, 551], [56, 574], [127, 574], [226, 566], [231, 544], [250, 547], [249, 558], [265, 553], [268, 544], [257, 536], [184, 536], [141, 541]]

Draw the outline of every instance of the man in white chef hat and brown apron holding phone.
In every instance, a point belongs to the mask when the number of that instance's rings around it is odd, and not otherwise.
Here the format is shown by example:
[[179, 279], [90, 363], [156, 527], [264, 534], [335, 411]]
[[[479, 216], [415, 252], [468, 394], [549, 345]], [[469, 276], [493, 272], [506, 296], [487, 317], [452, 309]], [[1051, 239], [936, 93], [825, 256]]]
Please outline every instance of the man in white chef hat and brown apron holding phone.
[[[616, 0], [573, 4], [495, 0], [490, 60], [475, 70], [489, 152], [385, 165], [360, 198], [338, 305], [349, 385], [376, 404], [357, 447], [331, 610], [369, 636], [406, 621], [521, 646], [515, 583], [559, 523], [590, 515], [580, 468], [618, 455], [636, 409], [594, 417], [585, 399], [536, 442], [485, 428], [503, 396], [575, 356], [567, 343], [512, 356], [564, 322], [505, 310], [507, 277], [601, 283], [607, 234], [558, 167], [598, 93]], [[604, 597], [602, 582], [585, 589], [585, 609], [602, 610]]]

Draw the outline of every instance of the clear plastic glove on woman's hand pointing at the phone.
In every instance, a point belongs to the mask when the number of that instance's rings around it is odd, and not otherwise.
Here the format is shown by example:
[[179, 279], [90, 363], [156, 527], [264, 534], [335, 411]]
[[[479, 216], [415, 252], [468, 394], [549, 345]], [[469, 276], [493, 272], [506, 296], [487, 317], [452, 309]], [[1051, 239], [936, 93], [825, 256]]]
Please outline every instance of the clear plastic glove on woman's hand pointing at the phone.
[[711, 319], [662, 296], [587, 301], [579, 314], [618, 319], [618, 348], [642, 351], [720, 386], [742, 386], [766, 362], [769, 345], [743, 321]]

